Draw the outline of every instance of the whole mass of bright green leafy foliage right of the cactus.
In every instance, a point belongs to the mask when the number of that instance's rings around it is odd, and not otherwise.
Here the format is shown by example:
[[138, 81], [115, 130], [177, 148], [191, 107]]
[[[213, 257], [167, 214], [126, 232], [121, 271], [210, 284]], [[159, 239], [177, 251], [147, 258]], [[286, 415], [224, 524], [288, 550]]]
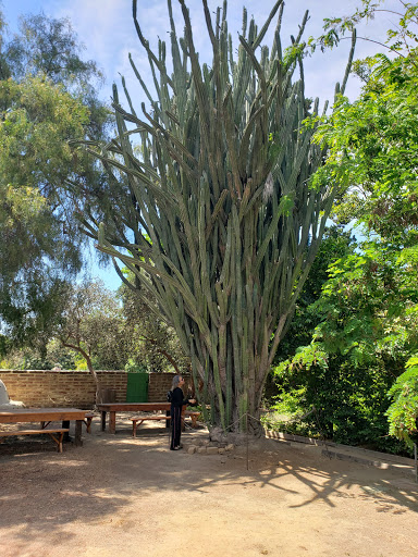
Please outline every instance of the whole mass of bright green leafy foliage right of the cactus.
[[[365, 1], [354, 16], [328, 21], [322, 46], [374, 15], [379, 3]], [[282, 387], [306, 387], [304, 408], [309, 400], [320, 410], [329, 436], [386, 450], [401, 444], [385, 437], [385, 413], [390, 434], [410, 447], [417, 412], [415, 372], [403, 374], [418, 348], [417, 12], [404, 4], [386, 44], [396, 57], [358, 62], [359, 98], [339, 97], [316, 133], [329, 157], [314, 184], [340, 183], [333, 216], [361, 226], [364, 239], [330, 265], [309, 308], [319, 319], [311, 343], [278, 367]]]

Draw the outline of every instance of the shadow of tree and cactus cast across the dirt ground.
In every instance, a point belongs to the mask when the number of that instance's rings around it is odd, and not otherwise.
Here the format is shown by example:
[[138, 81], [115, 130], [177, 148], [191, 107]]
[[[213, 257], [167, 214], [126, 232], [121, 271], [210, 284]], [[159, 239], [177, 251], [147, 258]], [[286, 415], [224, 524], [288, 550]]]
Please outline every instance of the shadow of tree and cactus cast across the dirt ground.
[[[205, 432], [188, 432], [185, 442]], [[45, 443], [42, 449], [47, 448]], [[3, 446], [4, 447], [4, 446]], [[168, 449], [163, 428], [144, 428], [133, 438], [127, 428], [116, 435], [99, 431], [84, 435], [84, 446], [53, 446], [39, 451], [33, 443], [0, 445], [0, 532], [11, 529], [22, 542], [34, 536], [62, 543], [76, 535], [76, 522], [111, 520], [138, 497], [167, 492], [170, 497], [258, 486], [286, 494], [288, 508], [322, 502], [330, 508], [339, 498], [371, 499], [380, 512], [418, 510], [418, 485], [385, 470], [330, 460], [317, 447], [293, 447], [272, 440], [237, 447], [224, 455], [188, 455]], [[248, 470], [247, 470], [248, 466]], [[65, 527], [74, 523], [74, 534]], [[65, 530], [65, 531], [64, 531]], [[9, 530], [10, 532], [10, 530]]]

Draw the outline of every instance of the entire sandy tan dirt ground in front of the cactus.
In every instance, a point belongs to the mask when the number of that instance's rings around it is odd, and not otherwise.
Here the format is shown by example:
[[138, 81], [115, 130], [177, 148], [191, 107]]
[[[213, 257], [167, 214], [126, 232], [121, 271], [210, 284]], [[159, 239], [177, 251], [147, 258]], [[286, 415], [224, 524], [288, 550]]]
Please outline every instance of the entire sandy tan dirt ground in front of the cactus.
[[247, 470], [245, 446], [189, 455], [159, 424], [136, 440], [118, 425], [96, 419], [62, 454], [44, 437], [0, 445], [1, 557], [417, 555], [414, 476], [273, 440], [250, 446]]

